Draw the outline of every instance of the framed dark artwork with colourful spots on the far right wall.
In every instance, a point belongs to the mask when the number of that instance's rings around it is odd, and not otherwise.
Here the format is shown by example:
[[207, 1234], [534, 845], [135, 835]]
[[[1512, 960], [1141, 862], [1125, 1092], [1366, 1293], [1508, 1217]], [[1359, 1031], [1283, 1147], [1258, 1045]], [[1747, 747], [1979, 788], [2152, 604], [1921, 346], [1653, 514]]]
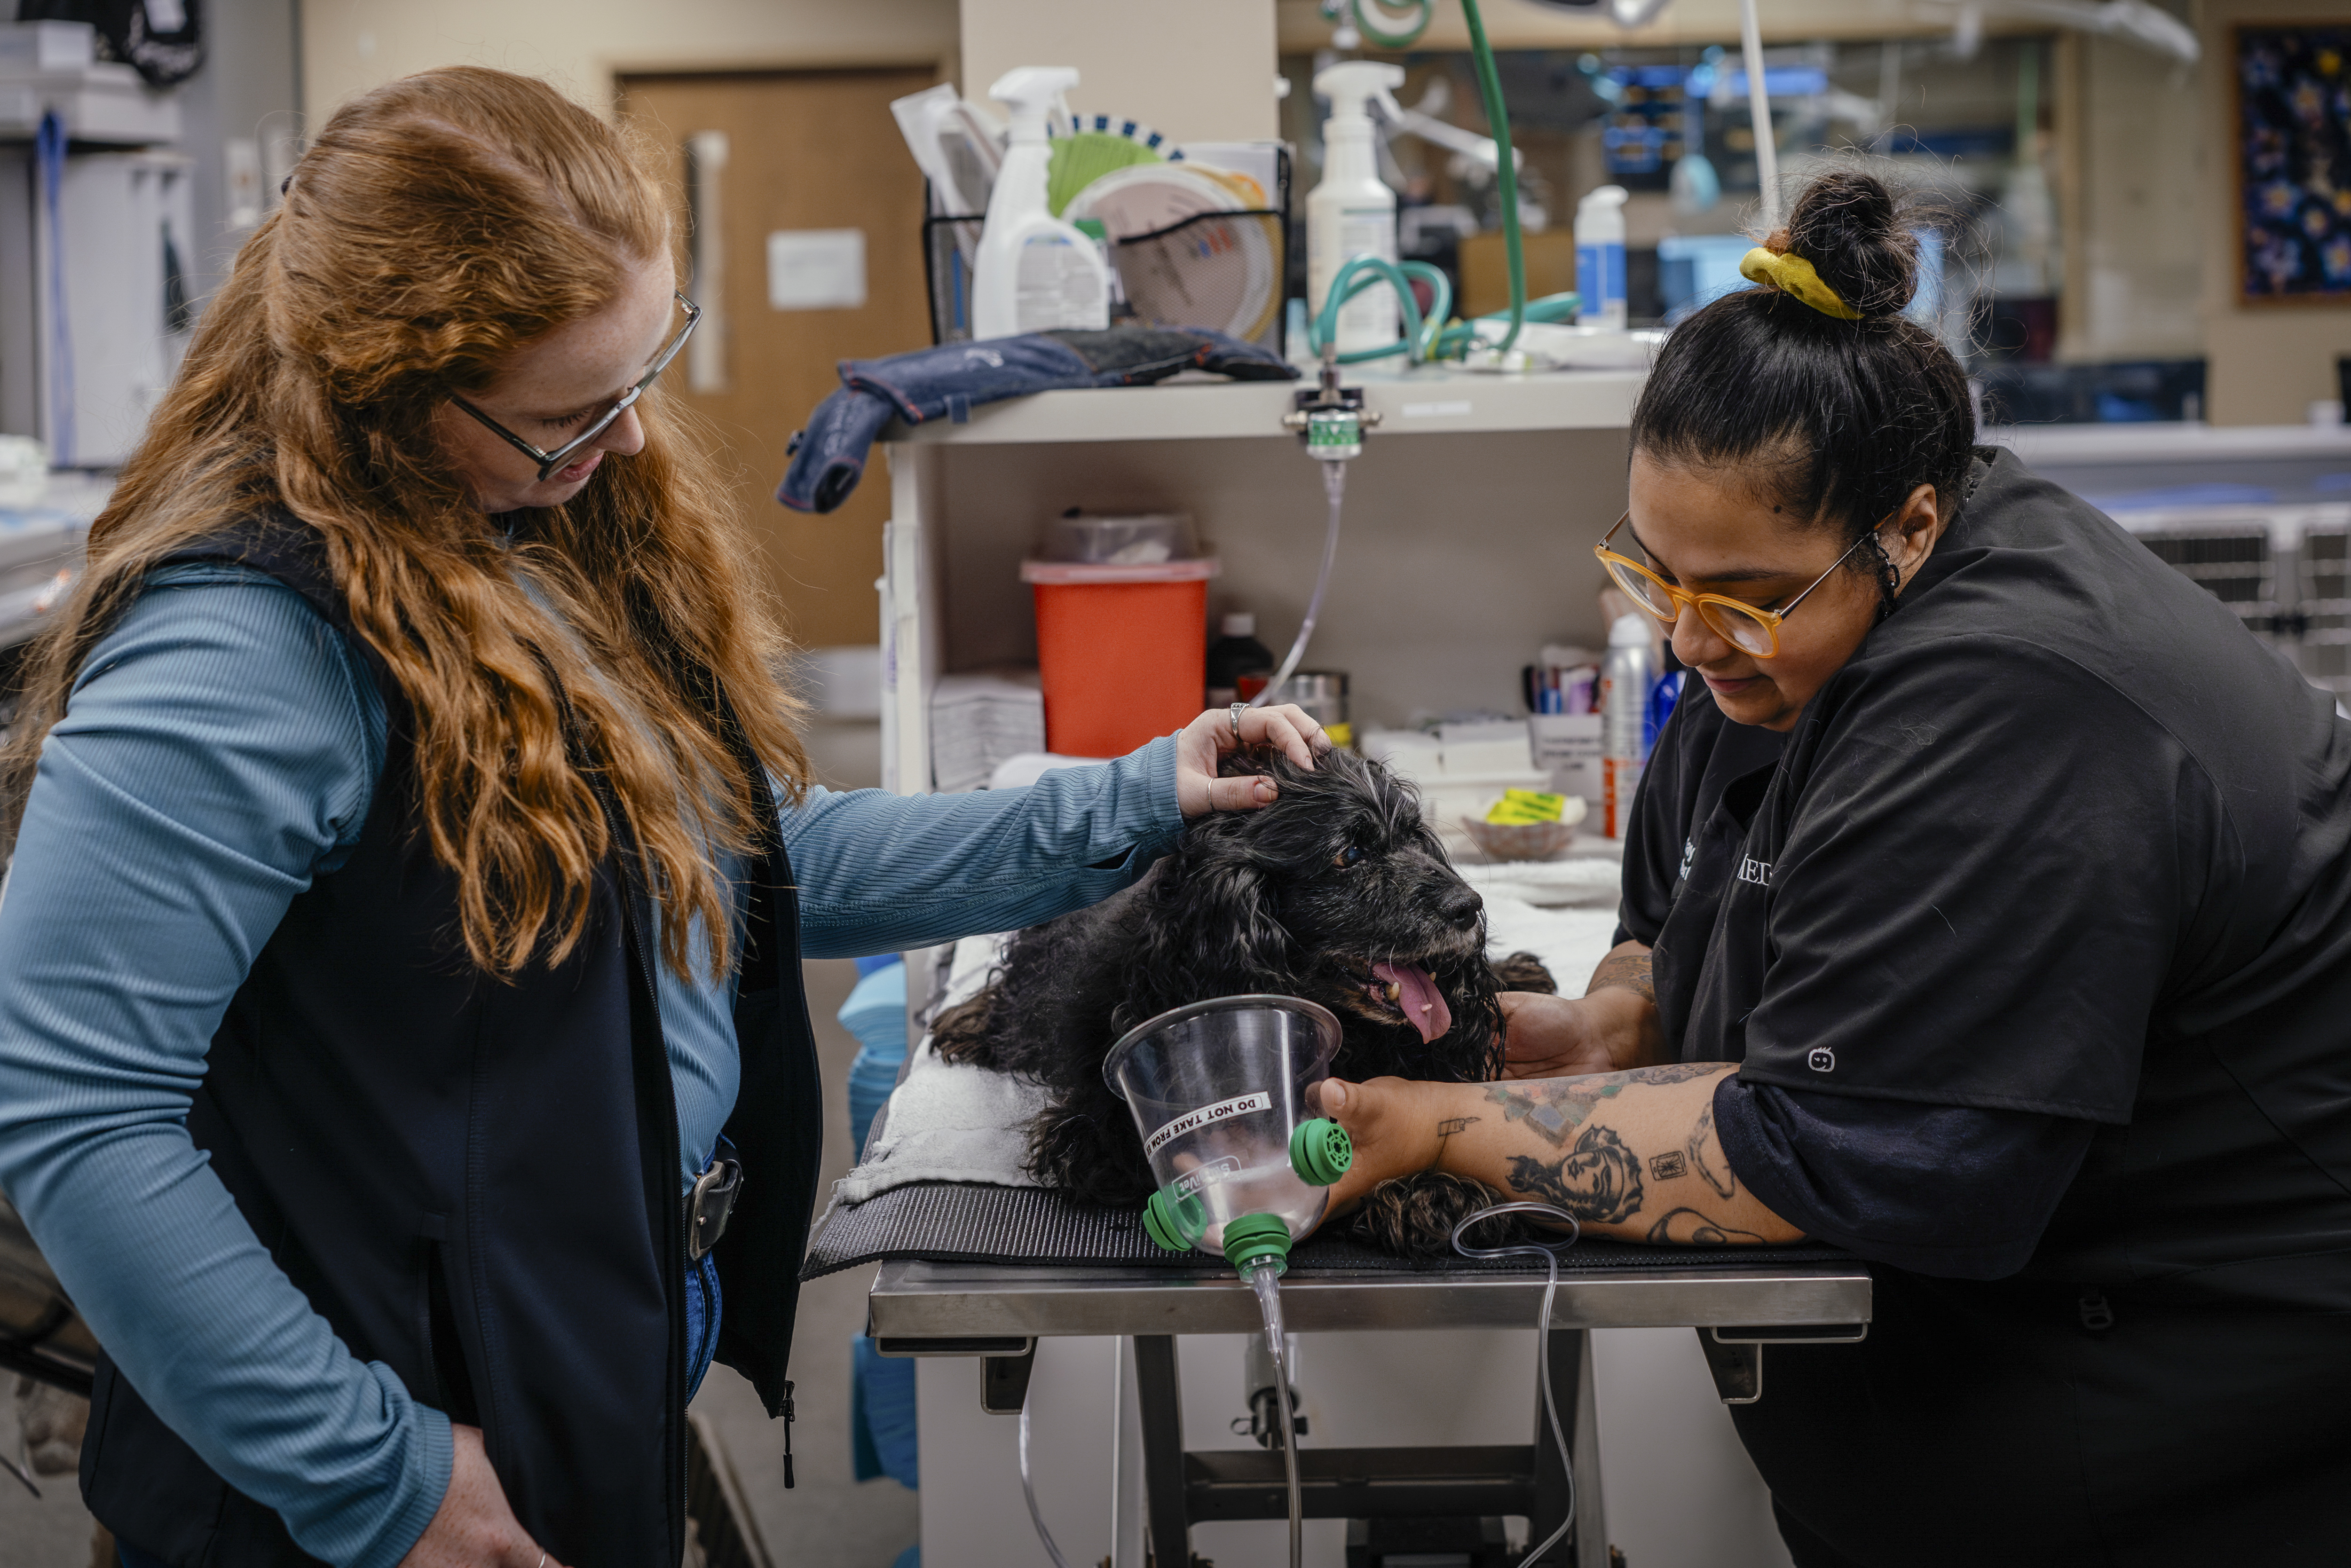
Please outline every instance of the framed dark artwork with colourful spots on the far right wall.
[[2236, 28], [2238, 292], [2351, 303], [2351, 24]]

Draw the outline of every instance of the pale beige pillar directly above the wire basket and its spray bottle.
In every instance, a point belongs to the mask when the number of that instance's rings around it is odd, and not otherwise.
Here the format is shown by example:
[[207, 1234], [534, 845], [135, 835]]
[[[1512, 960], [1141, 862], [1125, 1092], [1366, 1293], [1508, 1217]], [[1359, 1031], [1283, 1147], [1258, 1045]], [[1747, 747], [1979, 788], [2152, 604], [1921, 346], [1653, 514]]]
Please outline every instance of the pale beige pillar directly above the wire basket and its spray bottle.
[[1077, 66], [1070, 108], [1176, 141], [1279, 134], [1274, 0], [962, 0], [964, 96], [1013, 66]]

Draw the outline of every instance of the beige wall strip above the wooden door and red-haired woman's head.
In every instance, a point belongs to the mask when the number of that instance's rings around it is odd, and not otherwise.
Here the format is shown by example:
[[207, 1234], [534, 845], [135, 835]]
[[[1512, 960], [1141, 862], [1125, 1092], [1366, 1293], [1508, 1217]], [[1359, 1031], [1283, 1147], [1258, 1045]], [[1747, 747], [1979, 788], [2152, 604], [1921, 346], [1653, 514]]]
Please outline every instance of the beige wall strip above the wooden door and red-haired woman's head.
[[621, 71], [955, 59], [955, 0], [301, 0], [310, 122], [430, 66], [501, 66], [611, 108]]

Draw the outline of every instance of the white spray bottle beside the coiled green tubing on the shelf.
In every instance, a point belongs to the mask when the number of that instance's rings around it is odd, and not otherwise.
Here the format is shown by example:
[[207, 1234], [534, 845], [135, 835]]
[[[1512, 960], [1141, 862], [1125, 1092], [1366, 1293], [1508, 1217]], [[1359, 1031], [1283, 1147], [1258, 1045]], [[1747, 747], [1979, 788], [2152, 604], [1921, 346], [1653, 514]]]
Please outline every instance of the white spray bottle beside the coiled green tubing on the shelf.
[[[1354, 256], [1396, 259], [1396, 193], [1371, 148], [1371, 101], [1404, 85], [1404, 66], [1352, 59], [1314, 75], [1331, 99], [1324, 120], [1324, 176], [1307, 197], [1307, 315], [1321, 320], [1331, 280]], [[1387, 348], [1404, 336], [1392, 287], [1371, 284], [1338, 313], [1338, 350]]]

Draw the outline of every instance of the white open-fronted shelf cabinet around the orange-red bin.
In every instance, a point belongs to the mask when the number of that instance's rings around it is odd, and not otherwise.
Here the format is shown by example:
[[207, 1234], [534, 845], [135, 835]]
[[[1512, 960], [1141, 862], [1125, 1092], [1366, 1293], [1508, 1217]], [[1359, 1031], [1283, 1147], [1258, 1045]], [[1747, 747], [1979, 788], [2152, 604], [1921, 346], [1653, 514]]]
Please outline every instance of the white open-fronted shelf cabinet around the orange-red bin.
[[[1592, 545], [1625, 510], [1641, 376], [1359, 367], [1382, 416], [1347, 465], [1331, 595], [1307, 668], [1347, 670], [1357, 726], [1519, 712], [1545, 642], [1601, 644]], [[1225, 571], [1208, 616], [1248, 609], [1288, 646], [1324, 543], [1319, 463], [1281, 428], [1298, 383], [1176, 381], [1039, 393], [971, 421], [891, 425], [884, 550], [884, 785], [931, 788], [943, 672], [1034, 663], [1018, 564], [1065, 508], [1187, 510]]]

